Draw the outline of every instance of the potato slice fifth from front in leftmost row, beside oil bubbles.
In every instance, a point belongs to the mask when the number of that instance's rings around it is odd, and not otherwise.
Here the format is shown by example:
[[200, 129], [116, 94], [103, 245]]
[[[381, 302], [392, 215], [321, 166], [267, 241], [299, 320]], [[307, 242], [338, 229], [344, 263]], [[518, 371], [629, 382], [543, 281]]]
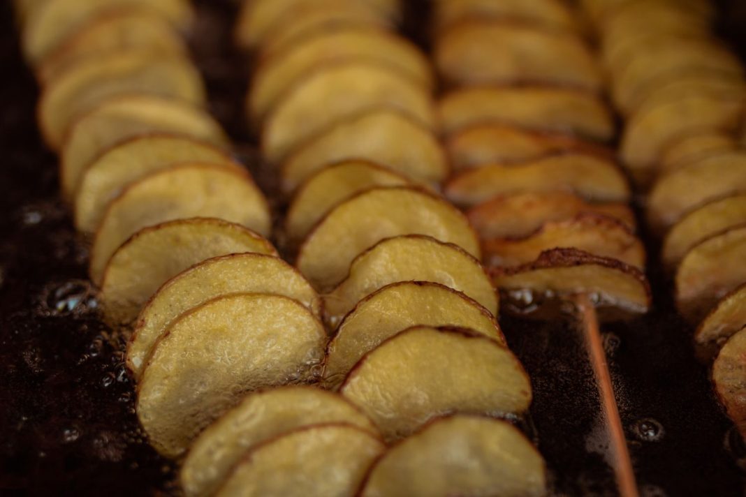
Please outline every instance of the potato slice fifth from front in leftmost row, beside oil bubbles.
[[163, 283], [206, 259], [231, 253], [276, 256], [257, 233], [219, 219], [180, 219], [141, 229], [114, 253], [99, 300], [113, 326], [131, 323]]

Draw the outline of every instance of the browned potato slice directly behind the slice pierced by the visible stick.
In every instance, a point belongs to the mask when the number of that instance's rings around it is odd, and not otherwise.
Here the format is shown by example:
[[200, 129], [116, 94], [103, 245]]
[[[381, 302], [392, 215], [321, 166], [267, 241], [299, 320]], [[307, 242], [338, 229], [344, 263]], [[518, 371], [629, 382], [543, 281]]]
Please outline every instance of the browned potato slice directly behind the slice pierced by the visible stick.
[[621, 221], [606, 215], [583, 213], [563, 221], [549, 221], [524, 238], [489, 238], [482, 242], [484, 260], [495, 266], [526, 264], [556, 247], [577, 248], [645, 268], [642, 241]]

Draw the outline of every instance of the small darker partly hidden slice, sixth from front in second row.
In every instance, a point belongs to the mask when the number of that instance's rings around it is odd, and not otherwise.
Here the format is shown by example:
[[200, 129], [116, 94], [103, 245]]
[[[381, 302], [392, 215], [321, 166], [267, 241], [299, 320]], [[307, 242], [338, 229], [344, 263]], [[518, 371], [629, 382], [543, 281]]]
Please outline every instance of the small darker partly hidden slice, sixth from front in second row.
[[285, 217], [285, 233], [303, 240], [338, 203], [375, 186], [404, 186], [406, 177], [374, 162], [348, 160], [327, 166], [308, 178], [295, 193]]

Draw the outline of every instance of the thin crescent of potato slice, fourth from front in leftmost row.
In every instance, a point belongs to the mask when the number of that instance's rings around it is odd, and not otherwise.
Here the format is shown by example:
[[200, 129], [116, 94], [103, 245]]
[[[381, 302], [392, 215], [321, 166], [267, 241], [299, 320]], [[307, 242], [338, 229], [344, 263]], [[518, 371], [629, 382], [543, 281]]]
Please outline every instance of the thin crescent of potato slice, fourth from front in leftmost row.
[[240, 253], [201, 262], [170, 279], [137, 317], [127, 365], [139, 378], [157, 340], [184, 312], [228, 294], [283, 295], [322, 317], [322, 300], [295, 268], [275, 256]]

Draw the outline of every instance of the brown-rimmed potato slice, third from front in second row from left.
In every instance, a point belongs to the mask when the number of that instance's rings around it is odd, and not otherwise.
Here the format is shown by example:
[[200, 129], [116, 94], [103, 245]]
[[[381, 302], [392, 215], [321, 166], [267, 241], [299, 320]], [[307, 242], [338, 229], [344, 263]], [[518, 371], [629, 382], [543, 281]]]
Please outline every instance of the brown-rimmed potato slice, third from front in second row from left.
[[505, 344], [495, 317], [466, 294], [433, 282], [392, 283], [360, 300], [339, 325], [327, 346], [325, 387], [338, 388], [363, 355], [419, 325], [467, 328]]

